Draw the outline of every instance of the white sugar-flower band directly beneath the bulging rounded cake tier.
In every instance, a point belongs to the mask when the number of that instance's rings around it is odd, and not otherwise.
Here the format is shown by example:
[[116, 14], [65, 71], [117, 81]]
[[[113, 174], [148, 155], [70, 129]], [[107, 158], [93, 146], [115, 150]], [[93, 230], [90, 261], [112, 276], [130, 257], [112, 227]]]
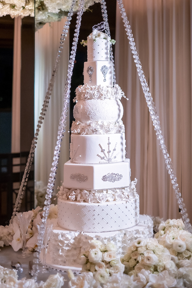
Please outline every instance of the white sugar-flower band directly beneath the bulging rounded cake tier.
[[92, 134], [112, 134], [112, 133], [124, 133], [125, 126], [122, 120], [119, 122], [102, 122], [102, 121], [88, 121], [87, 123], [81, 123], [79, 121], [73, 121], [71, 125], [72, 134], [92, 135]]

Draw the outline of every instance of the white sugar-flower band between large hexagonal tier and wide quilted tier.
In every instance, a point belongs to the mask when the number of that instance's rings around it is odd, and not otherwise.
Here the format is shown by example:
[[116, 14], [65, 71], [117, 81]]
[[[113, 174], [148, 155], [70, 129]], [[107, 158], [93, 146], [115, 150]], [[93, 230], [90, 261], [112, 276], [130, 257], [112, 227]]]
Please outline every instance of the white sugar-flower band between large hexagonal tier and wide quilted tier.
[[128, 187], [120, 189], [104, 189], [104, 190], [83, 190], [83, 189], [67, 189], [63, 186], [57, 194], [62, 200], [79, 201], [87, 203], [104, 203], [106, 201], [122, 201], [135, 198], [137, 179], [130, 183]]

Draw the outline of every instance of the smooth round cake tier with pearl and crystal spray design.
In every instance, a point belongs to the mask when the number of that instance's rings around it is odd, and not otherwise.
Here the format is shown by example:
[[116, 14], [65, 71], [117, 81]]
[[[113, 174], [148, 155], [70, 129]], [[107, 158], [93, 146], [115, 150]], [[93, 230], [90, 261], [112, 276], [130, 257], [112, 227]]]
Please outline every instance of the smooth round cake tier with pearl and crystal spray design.
[[97, 164], [105, 158], [110, 162], [124, 161], [125, 133], [71, 135], [70, 158], [79, 164]]

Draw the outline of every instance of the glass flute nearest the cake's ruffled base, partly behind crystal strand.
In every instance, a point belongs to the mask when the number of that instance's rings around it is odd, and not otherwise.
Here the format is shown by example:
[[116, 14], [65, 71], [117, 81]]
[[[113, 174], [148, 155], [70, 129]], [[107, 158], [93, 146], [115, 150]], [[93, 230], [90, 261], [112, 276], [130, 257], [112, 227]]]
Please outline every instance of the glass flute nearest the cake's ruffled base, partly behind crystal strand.
[[41, 244], [42, 267], [39, 267], [39, 270], [38, 270], [38, 272], [41, 272], [41, 273], [48, 272], [48, 269], [49, 269], [46, 266], [46, 255], [47, 255], [47, 247], [48, 247], [52, 227], [53, 227], [53, 224], [46, 224], [44, 228], [42, 222], [37, 223], [39, 234], [43, 233], [43, 242]]

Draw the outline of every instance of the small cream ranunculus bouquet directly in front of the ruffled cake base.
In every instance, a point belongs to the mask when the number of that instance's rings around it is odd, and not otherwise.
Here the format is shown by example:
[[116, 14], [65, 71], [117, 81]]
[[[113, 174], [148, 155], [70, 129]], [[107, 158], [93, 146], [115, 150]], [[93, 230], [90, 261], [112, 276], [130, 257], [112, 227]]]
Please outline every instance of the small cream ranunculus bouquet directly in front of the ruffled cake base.
[[105, 283], [109, 276], [123, 272], [123, 265], [116, 252], [117, 248], [111, 242], [103, 244], [99, 240], [90, 241], [90, 249], [79, 260], [82, 272], [92, 272], [96, 281]]

